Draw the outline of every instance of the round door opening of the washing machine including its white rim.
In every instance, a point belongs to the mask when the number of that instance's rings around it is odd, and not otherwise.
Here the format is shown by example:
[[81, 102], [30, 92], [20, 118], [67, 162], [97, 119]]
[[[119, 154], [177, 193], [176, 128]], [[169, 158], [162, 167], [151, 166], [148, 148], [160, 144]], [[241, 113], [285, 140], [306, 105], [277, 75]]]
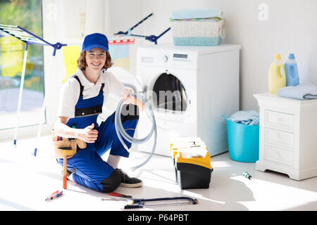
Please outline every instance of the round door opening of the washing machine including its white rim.
[[156, 117], [156, 124], [162, 129], [175, 129], [184, 120], [189, 106], [185, 85], [168, 71], [151, 80], [147, 99]]

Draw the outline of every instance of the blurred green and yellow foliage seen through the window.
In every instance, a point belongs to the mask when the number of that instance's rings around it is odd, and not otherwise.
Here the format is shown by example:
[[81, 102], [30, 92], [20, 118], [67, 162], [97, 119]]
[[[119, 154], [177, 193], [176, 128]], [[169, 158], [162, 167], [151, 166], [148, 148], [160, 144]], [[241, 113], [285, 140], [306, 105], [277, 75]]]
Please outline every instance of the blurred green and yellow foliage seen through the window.
[[[0, 0], [0, 24], [19, 25], [42, 37], [42, 0]], [[18, 87], [25, 44], [0, 32], [0, 89]], [[27, 52], [25, 89], [43, 92], [43, 46], [31, 44]]]

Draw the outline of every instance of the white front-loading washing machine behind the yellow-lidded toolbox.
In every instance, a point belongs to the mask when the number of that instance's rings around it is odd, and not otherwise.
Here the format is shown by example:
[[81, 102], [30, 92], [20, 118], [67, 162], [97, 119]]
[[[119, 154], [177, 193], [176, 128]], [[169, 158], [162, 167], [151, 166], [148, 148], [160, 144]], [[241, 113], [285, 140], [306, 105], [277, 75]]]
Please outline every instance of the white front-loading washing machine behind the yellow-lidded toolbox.
[[[222, 115], [239, 110], [240, 49], [235, 44], [138, 47], [137, 77], [158, 129], [156, 154], [170, 155], [170, 143], [175, 139], [195, 136], [206, 143], [211, 156], [228, 151]], [[146, 136], [151, 128], [151, 121], [142, 113], [137, 138]], [[137, 148], [149, 152], [152, 141]]]

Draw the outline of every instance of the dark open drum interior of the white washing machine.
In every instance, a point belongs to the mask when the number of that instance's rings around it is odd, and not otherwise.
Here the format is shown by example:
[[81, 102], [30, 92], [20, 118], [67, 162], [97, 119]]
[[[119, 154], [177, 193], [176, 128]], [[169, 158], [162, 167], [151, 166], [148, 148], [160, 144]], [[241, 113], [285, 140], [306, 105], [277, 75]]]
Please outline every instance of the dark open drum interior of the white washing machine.
[[186, 111], [187, 95], [180, 79], [166, 72], [157, 77], [153, 85], [152, 99], [156, 108]]

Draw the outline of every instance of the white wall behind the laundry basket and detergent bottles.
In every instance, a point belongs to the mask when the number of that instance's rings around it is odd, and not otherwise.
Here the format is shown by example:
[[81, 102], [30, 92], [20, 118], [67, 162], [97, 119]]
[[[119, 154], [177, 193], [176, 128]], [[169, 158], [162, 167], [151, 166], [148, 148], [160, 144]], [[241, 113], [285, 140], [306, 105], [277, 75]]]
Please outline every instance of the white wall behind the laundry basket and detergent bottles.
[[[259, 20], [260, 4], [267, 4], [268, 20]], [[224, 11], [225, 43], [242, 44], [241, 110], [259, 110], [253, 94], [268, 91], [268, 68], [275, 53], [280, 53], [282, 60], [287, 59], [288, 53], [295, 53], [300, 82], [317, 84], [317, 1], [144, 0], [142, 15], [154, 13], [142, 26], [144, 33], [158, 35], [163, 32], [169, 27], [170, 13], [175, 9], [204, 7]], [[171, 32], [159, 39], [159, 43], [169, 41], [173, 41]]]

